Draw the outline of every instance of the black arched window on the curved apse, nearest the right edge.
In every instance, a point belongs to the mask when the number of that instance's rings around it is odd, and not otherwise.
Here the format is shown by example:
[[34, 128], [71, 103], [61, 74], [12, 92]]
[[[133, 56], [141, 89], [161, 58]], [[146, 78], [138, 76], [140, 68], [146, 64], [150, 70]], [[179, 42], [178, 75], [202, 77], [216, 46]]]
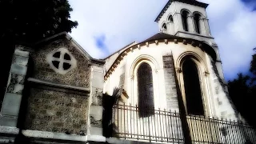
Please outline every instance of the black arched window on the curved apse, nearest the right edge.
[[191, 59], [186, 59], [182, 65], [182, 72], [184, 77], [187, 113], [204, 115], [197, 66]]

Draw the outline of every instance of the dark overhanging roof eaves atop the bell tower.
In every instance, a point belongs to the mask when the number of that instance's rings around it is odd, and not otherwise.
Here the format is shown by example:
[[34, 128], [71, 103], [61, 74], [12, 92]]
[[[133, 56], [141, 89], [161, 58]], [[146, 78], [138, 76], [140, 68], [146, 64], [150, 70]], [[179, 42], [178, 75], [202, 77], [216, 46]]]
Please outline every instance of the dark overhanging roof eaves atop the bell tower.
[[190, 5], [194, 5], [194, 6], [201, 6], [203, 8], [206, 8], [209, 4], [207, 3], [203, 3], [203, 2], [198, 2], [196, 0], [169, 0], [167, 3], [166, 3], [166, 6], [163, 7], [162, 11], [160, 12], [160, 14], [158, 14], [158, 17], [155, 18], [154, 22], [158, 22], [160, 18], [162, 18], [162, 15], [166, 12], [166, 10], [169, 8], [171, 2], [183, 2], [183, 3], [187, 3], [187, 4], [190, 4]]

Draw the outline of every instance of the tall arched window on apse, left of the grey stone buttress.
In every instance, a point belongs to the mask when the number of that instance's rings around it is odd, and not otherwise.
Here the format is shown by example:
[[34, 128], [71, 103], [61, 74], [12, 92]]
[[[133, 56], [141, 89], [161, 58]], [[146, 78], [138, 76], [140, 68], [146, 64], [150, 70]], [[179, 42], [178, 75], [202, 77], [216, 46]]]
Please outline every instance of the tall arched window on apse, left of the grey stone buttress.
[[148, 117], [154, 112], [154, 90], [152, 69], [149, 64], [142, 63], [138, 68], [138, 114]]

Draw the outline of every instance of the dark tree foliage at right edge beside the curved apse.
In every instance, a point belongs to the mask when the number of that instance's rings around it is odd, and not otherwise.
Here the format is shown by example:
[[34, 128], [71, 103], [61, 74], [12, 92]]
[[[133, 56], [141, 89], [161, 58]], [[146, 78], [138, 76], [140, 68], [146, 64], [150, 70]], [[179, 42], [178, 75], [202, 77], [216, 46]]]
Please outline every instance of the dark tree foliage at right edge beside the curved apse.
[[250, 125], [256, 127], [254, 118], [255, 96], [256, 96], [256, 54], [250, 62], [250, 75], [238, 74], [238, 78], [228, 82], [230, 98], [234, 102], [238, 112], [246, 119]]

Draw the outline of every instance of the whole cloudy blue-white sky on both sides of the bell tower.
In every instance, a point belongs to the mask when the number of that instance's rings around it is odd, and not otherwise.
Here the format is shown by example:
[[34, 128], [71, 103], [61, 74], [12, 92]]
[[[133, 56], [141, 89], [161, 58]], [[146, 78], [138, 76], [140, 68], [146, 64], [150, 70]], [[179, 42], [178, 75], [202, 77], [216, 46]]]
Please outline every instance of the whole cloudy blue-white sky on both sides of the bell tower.
[[[168, 0], [69, 0], [71, 36], [93, 57], [106, 58], [130, 42], [158, 33], [154, 19]], [[217, 42], [226, 80], [247, 73], [256, 47], [256, 0], [200, 0]]]

